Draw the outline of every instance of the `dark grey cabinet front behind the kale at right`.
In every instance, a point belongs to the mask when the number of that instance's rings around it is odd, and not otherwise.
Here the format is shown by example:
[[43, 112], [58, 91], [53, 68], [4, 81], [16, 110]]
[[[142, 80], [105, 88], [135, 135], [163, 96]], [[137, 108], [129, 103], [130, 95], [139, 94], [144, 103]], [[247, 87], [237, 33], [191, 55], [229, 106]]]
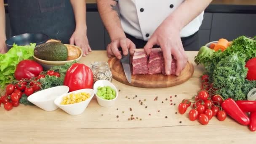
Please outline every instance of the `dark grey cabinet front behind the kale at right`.
[[256, 14], [214, 13], [210, 40], [226, 38], [229, 41], [241, 36], [256, 35]]

